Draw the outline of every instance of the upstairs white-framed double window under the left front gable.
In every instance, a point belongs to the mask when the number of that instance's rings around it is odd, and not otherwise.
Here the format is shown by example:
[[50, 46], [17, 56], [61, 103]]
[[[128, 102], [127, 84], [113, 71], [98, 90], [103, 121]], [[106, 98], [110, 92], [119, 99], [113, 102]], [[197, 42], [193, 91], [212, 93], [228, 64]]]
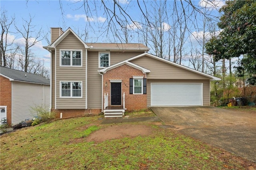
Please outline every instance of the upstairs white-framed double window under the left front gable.
[[61, 66], [82, 66], [82, 50], [60, 50]]

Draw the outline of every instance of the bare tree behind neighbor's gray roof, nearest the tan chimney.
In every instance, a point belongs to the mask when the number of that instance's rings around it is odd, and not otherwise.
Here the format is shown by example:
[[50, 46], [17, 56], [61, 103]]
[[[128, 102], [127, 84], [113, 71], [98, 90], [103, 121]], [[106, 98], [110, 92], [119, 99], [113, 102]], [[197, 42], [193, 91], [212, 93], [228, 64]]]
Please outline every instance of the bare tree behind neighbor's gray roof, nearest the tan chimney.
[[25, 72], [28, 72], [28, 66], [30, 62], [30, 48], [34, 46], [37, 42], [40, 42], [42, 39], [40, 39], [40, 33], [42, 30], [42, 27], [40, 30], [36, 31], [35, 26], [32, 25], [32, 17], [30, 16], [29, 20], [23, 20], [23, 28], [20, 29], [17, 26], [15, 26], [16, 30], [22, 35], [24, 38], [24, 65], [22, 64], [22, 70]]

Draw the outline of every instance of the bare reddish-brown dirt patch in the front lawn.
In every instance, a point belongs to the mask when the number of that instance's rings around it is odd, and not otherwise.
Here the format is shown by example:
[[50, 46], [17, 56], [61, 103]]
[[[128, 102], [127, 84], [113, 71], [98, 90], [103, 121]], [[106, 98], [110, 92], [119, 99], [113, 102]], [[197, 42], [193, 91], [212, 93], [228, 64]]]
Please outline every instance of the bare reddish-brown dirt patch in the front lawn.
[[146, 125], [111, 125], [106, 128], [97, 130], [86, 137], [87, 142], [94, 141], [96, 143], [105, 140], [118, 139], [118, 138], [133, 138], [136, 136], [147, 136], [152, 133], [152, 128]]

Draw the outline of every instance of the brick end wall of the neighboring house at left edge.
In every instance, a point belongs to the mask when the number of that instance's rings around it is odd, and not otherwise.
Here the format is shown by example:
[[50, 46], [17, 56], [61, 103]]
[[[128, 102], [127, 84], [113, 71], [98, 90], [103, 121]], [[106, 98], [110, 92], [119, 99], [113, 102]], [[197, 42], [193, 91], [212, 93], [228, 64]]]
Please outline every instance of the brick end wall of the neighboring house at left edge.
[[7, 106], [7, 123], [12, 124], [12, 82], [0, 76], [0, 106]]

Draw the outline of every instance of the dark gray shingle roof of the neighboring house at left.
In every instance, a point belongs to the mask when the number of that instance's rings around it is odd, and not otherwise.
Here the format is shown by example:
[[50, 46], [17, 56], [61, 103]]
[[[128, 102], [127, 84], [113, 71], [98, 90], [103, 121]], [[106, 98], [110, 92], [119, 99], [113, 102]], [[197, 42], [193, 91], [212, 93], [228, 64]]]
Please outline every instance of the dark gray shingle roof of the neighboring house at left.
[[0, 66], [0, 75], [9, 79], [10, 81], [22, 81], [28, 83], [37, 83], [50, 85], [50, 80], [36, 74], [26, 73], [24, 71], [9, 69]]

